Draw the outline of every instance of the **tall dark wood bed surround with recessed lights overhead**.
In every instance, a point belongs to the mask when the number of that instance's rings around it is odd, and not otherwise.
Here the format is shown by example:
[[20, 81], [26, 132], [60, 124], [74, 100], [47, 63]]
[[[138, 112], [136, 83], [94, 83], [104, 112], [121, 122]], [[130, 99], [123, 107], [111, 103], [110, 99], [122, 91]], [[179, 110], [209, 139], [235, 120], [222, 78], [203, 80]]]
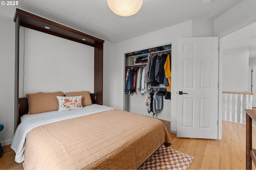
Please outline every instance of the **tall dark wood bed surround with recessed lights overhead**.
[[[97, 92], [96, 104], [103, 104], [103, 43], [104, 40], [93, 37], [86, 33], [66, 27], [54, 21], [47, 20], [29, 12], [16, 9], [15, 22], [15, 84], [14, 84], [14, 131], [20, 122], [20, 116], [28, 110], [26, 99], [19, 98], [19, 42], [20, 26], [48, 33], [57, 37], [75, 41], [94, 47], [94, 94]], [[50, 27], [45, 29], [44, 27]], [[82, 39], [86, 39], [83, 41]], [[85, 89], [86, 90], [86, 89]], [[92, 95], [91, 94], [91, 97]], [[94, 98], [94, 97], [93, 97]], [[94, 101], [94, 100], [92, 100]], [[28, 106], [28, 105], [27, 105]], [[20, 113], [20, 114], [19, 114]]]

